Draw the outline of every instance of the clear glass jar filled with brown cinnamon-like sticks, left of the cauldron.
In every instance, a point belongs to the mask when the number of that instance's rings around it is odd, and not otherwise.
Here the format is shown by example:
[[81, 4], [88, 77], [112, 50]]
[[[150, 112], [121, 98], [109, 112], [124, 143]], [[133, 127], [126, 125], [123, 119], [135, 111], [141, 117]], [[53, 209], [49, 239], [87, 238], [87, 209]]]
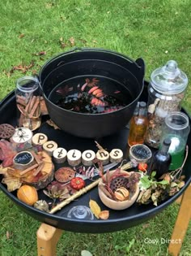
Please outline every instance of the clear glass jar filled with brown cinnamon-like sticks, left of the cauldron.
[[34, 76], [16, 81], [17, 125], [34, 131], [40, 127], [40, 86]]

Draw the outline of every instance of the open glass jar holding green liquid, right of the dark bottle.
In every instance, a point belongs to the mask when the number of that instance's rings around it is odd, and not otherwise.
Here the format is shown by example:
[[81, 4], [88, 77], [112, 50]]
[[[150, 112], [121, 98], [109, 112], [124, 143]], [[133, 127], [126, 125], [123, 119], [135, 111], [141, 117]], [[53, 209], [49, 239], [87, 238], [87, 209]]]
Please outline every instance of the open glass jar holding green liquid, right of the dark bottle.
[[168, 152], [172, 156], [169, 170], [181, 167], [185, 158], [185, 146], [189, 136], [189, 117], [185, 113], [176, 111], [168, 114], [162, 128], [161, 141], [171, 140]]

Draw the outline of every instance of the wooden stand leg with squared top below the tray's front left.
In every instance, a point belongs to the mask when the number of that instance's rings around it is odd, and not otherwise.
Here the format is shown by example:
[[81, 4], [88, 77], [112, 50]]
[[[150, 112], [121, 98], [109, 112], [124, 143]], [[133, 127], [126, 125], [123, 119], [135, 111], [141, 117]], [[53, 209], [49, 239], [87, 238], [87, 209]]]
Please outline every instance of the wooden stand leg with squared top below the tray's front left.
[[62, 230], [42, 223], [36, 235], [38, 256], [56, 256], [57, 242]]

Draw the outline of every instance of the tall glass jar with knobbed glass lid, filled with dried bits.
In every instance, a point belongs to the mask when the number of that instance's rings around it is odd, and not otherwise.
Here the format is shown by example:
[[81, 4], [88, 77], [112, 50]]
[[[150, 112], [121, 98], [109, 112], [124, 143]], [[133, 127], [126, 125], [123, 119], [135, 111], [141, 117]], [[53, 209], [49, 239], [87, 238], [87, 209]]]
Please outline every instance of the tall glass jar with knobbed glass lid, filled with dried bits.
[[162, 125], [165, 117], [172, 111], [180, 111], [185, 96], [188, 77], [180, 71], [174, 60], [151, 73], [148, 85], [148, 127], [145, 143], [159, 148]]

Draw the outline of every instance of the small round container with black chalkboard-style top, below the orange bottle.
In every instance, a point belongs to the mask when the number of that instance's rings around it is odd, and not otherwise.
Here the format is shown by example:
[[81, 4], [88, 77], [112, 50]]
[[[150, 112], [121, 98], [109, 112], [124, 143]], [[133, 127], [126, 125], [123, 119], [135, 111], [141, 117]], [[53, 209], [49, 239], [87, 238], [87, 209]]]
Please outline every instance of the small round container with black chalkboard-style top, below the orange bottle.
[[129, 149], [129, 158], [135, 159], [138, 163], [149, 162], [151, 156], [151, 150], [143, 144], [132, 145]]

